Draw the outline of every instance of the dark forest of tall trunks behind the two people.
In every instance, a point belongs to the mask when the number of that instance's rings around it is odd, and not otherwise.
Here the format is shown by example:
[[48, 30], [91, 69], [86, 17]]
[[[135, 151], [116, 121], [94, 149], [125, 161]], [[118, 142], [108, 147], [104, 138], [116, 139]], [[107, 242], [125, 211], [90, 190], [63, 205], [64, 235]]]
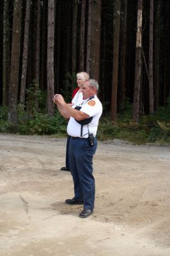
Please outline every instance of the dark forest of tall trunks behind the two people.
[[[141, 118], [158, 113], [150, 126], [169, 135], [169, 11], [166, 0], [1, 1], [0, 113], [5, 125], [27, 121], [29, 126], [36, 120], [41, 127], [42, 114], [51, 122], [54, 93], [70, 102], [76, 73], [86, 71], [100, 84], [104, 116], [114, 124], [109, 123], [109, 133], [118, 128], [121, 114], [123, 127], [133, 122], [133, 130]], [[62, 122], [57, 118], [54, 125]]]

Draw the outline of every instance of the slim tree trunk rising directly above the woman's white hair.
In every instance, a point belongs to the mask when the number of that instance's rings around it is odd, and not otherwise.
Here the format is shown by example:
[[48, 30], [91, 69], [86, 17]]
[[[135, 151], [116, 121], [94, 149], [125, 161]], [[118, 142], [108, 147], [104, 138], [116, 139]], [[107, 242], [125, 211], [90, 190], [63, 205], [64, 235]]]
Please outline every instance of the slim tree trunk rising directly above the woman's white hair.
[[81, 1], [81, 38], [80, 38], [80, 62], [79, 70], [84, 70], [84, 45], [85, 45], [85, 12], [86, 12], [86, 0]]

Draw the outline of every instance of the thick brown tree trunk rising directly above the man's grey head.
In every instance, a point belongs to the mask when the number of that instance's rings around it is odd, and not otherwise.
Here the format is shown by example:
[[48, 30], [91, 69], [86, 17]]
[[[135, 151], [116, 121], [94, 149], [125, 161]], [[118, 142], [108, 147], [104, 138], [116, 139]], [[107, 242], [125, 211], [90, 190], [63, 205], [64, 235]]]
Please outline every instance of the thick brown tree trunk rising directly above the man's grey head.
[[89, 0], [86, 71], [99, 80], [101, 1]]

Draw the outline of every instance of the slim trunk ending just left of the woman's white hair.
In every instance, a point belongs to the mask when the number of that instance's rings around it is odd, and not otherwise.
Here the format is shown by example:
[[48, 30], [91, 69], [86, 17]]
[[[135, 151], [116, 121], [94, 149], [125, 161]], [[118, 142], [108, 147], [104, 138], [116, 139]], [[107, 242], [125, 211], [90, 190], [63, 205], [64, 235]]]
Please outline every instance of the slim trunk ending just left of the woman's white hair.
[[77, 0], [73, 0], [73, 26], [72, 26], [72, 75], [76, 72], [77, 57]]

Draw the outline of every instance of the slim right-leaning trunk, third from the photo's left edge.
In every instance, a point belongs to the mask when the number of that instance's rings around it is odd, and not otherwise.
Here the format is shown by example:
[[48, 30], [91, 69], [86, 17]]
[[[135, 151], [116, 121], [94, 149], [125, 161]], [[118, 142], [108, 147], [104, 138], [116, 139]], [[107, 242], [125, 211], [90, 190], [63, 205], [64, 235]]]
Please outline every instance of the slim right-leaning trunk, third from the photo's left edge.
[[31, 0], [27, 0], [25, 28], [24, 28], [24, 50], [23, 50], [23, 56], [22, 56], [22, 76], [21, 76], [21, 84], [20, 84], [20, 104], [22, 104], [23, 106], [25, 104], [25, 95], [26, 95], [30, 12], [31, 12]]

